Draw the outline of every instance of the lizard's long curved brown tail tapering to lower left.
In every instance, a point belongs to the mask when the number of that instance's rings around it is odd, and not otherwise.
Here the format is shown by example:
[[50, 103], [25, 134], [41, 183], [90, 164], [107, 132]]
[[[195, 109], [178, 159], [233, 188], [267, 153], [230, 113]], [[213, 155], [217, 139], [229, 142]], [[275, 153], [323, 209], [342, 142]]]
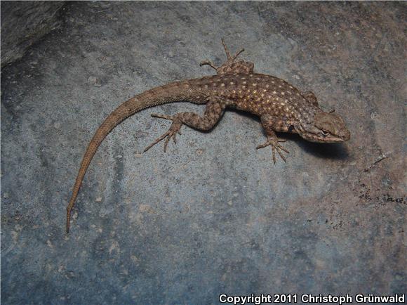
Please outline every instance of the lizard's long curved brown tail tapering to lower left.
[[[191, 81], [189, 81], [190, 84]], [[82, 160], [81, 167], [79, 169], [78, 176], [72, 190], [72, 197], [69, 200], [67, 207], [67, 233], [69, 233], [69, 221], [71, 219], [71, 211], [74, 207], [76, 197], [81, 188], [82, 181], [86, 174], [86, 170], [91, 164], [95, 152], [98, 150], [100, 143], [109, 134], [114, 127], [119, 125], [124, 119], [134, 115], [145, 108], [154, 107], [156, 105], [162, 105], [165, 103], [172, 103], [175, 101], [191, 100], [194, 98], [192, 91], [186, 90], [185, 82], [176, 82], [165, 86], [157, 87], [155, 89], [145, 91], [144, 93], [135, 96], [126, 102], [122, 103], [116, 110], [114, 110], [103, 122], [98, 130], [95, 132], [91, 143], [89, 143], [86, 149], [84, 159]]]

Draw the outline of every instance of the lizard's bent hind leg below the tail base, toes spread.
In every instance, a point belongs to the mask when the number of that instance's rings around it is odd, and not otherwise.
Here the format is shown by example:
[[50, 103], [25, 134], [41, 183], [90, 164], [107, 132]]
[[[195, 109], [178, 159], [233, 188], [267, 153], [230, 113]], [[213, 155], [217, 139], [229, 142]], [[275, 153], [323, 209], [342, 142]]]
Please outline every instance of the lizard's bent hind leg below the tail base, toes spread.
[[167, 150], [168, 142], [171, 138], [173, 138], [174, 143], [177, 143], [175, 140], [175, 136], [180, 133], [180, 129], [182, 124], [185, 124], [193, 129], [201, 130], [201, 131], [208, 131], [215, 126], [216, 123], [219, 122], [220, 118], [225, 112], [225, 103], [221, 102], [217, 98], [213, 98], [209, 103], [206, 104], [204, 117], [197, 115], [194, 112], [180, 112], [176, 115], [157, 115], [155, 113], [152, 114], [152, 117], [159, 117], [161, 119], [171, 119], [173, 124], [171, 124], [170, 129], [156, 139], [153, 143], [145, 148], [145, 152], [152, 148], [152, 146], [159, 143], [159, 141], [166, 138], [164, 143], [164, 152]]

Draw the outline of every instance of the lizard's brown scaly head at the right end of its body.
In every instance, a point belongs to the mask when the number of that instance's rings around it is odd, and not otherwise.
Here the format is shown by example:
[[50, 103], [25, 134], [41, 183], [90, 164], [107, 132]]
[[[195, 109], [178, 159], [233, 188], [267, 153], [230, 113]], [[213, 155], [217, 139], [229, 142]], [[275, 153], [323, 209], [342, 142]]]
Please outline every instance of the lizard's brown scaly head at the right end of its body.
[[318, 143], [340, 143], [350, 138], [342, 117], [322, 110], [310, 115], [309, 122], [300, 124], [297, 131], [307, 141]]

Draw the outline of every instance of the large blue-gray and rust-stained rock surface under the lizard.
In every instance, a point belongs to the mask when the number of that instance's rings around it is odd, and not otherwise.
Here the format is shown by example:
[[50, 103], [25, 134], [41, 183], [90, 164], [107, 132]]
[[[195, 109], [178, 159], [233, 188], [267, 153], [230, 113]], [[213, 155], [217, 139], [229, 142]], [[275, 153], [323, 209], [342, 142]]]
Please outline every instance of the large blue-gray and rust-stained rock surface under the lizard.
[[[74, 2], [1, 77], [1, 303], [216, 304], [218, 295], [406, 292], [406, 4]], [[88, 141], [127, 98], [211, 74], [220, 38], [345, 117], [352, 139], [286, 136], [274, 166], [260, 122], [209, 133], [146, 110], [107, 136], [65, 234]]]

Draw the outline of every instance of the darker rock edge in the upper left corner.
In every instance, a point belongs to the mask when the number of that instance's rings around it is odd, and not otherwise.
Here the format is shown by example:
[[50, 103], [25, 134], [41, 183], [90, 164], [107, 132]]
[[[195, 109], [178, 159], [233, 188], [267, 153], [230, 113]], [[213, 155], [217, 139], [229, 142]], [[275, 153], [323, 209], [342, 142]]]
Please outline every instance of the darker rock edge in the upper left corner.
[[65, 1], [1, 1], [1, 67], [21, 58], [27, 48], [61, 25]]

